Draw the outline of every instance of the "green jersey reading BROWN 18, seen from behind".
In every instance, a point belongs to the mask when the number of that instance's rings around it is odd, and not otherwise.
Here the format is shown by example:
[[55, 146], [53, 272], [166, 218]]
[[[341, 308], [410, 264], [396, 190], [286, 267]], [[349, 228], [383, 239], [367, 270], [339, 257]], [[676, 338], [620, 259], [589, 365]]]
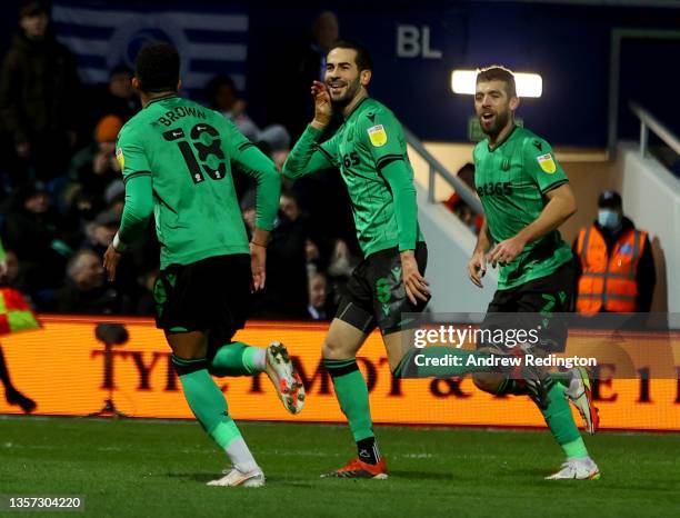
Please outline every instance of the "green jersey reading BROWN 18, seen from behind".
[[153, 100], [120, 130], [116, 155], [126, 183], [151, 176], [161, 268], [249, 253], [232, 165], [268, 177], [273, 199], [258, 196], [258, 226], [272, 228], [280, 189], [273, 163], [217, 111], [177, 96]]

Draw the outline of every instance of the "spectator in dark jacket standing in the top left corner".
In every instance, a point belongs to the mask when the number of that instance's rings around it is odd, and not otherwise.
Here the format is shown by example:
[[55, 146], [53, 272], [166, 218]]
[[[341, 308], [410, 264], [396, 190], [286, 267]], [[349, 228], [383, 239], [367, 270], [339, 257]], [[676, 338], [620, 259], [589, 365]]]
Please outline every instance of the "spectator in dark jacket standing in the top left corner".
[[[49, 31], [40, 2], [24, 3], [0, 72], [0, 114], [16, 183], [66, 172], [76, 143], [80, 81], [72, 53]], [[11, 158], [11, 157], [10, 157]]]

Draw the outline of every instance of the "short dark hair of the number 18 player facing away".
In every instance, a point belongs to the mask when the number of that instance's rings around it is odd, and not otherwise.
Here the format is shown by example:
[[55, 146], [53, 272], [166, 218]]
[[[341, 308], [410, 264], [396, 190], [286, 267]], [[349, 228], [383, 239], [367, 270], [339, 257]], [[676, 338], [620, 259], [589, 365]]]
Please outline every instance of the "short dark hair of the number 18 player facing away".
[[177, 49], [164, 42], [144, 44], [137, 54], [134, 74], [143, 92], [177, 90], [180, 59]]

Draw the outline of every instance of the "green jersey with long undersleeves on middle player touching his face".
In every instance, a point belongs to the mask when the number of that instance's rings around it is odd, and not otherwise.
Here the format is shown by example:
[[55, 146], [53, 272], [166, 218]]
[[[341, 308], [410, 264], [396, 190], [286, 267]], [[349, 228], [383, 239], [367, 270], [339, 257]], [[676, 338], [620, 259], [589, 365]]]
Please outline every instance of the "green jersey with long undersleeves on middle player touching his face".
[[[323, 166], [337, 167], [347, 185], [363, 256], [393, 247], [413, 250], [423, 237], [418, 225], [413, 169], [397, 117], [377, 100], [366, 98], [329, 140], [318, 143], [321, 133], [311, 126], [307, 128], [283, 167], [284, 175], [298, 178], [320, 169], [310, 155], [321, 153]], [[386, 171], [394, 161], [403, 167], [397, 177], [388, 176]]]

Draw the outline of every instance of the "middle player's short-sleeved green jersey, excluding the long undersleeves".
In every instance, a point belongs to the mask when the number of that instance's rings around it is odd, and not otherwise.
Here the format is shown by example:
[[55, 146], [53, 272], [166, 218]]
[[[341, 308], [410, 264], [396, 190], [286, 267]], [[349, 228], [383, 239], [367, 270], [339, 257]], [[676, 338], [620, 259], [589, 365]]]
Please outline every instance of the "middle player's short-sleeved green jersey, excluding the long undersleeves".
[[[377, 100], [366, 98], [319, 149], [340, 169], [347, 185], [363, 256], [399, 246], [394, 202], [380, 169], [390, 161], [403, 160], [411, 182], [413, 169], [394, 113]], [[423, 241], [418, 217], [409, 223], [416, 229], [417, 241]]]

